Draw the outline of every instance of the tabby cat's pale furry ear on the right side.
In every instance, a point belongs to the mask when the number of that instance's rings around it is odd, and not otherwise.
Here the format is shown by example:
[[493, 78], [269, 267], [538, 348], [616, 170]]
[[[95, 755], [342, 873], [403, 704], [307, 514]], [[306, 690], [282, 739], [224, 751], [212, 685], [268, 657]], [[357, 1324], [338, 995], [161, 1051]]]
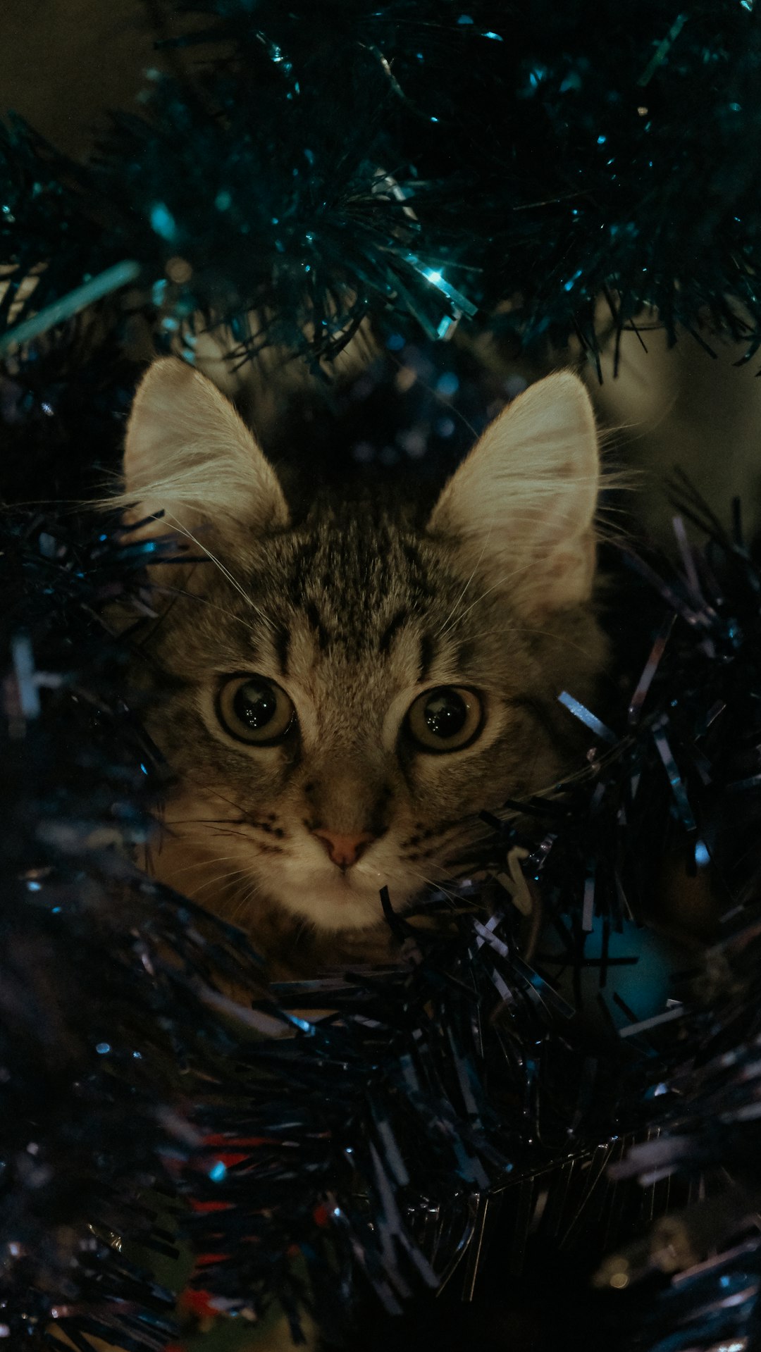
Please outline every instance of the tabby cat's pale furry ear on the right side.
[[428, 530], [462, 571], [485, 573], [524, 612], [585, 600], [595, 575], [600, 457], [592, 404], [569, 370], [530, 385], [446, 484]]

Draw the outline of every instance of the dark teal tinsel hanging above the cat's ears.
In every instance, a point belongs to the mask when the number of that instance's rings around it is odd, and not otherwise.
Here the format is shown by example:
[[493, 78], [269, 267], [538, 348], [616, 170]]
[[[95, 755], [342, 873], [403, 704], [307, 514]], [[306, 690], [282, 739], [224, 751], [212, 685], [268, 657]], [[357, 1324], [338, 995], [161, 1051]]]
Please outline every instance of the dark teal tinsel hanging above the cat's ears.
[[158, 8], [178, 59], [92, 162], [3, 128], [4, 350], [124, 287], [188, 357], [210, 322], [330, 356], [365, 316], [761, 342], [752, 0]]

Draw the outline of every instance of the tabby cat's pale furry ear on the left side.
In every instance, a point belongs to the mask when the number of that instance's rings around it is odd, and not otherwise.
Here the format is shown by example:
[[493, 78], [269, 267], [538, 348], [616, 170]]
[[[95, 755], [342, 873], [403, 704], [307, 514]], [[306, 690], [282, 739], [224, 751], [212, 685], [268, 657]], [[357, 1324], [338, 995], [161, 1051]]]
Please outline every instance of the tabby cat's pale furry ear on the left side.
[[220, 518], [254, 529], [288, 523], [274, 469], [232, 404], [173, 357], [154, 362], [138, 387], [120, 500], [138, 503], [132, 519], [164, 508], [161, 529]]

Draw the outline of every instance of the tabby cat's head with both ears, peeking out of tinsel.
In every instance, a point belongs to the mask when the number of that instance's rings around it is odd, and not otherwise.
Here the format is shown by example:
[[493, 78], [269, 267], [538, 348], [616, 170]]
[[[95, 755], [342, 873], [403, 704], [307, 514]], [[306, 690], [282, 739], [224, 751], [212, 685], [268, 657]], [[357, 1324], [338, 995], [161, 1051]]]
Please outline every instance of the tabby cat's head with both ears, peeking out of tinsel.
[[[415, 522], [319, 500], [293, 521], [273, 466], [203, 376], [157, 362], [132, 407], [124, 500], [205, 562], [158, 571], [149, 727], [177, 776], [172, 882], [255, 927], [377, 923], [462, 873], [480, 813], [551, 783], [568, 687], [591, 691], [599, 452], [562, 372], [487, 429]], [[565, 745], [568, 760], [568, 742]]]

